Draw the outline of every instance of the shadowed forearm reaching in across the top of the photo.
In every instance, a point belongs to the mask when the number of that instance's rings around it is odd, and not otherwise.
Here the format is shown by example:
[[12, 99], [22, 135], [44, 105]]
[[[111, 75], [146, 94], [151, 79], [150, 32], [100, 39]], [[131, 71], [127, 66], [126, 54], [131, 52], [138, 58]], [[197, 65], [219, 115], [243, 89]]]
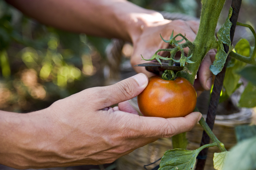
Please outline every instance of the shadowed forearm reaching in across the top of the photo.
[[89, 35], [134, 41], [161, 14], [126, 0], [6, 0], [43, 24]]

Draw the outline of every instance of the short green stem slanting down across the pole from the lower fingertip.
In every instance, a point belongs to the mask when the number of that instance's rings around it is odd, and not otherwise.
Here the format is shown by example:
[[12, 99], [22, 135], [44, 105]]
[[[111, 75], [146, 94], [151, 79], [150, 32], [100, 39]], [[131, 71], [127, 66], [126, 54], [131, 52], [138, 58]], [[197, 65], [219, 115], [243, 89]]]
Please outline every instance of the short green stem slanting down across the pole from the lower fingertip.
[[224, 147], [224, 144], [219, 141], [219, 139], [214, 135], [214, 133], [211, 131], [208, 124], [205, 122], [204, 118], [201, 118], [199, 121], [199, 124], [203, 127], [204, 131], [206, 131], [207, 135], [211, 138], [213, 142], [215, 142], [218, 146], [218, 148], [223, 152], [227, 151]]

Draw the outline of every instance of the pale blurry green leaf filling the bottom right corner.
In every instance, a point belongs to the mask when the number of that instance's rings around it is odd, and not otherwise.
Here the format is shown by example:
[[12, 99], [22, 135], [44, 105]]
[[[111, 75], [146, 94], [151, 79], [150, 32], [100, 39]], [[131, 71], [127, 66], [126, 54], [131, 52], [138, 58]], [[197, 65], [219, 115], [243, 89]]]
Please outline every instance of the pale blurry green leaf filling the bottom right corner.
[[223, 170], [255, 170], [255, 160], [256, 137], [253, 137], [238, 143], [230, 150]]

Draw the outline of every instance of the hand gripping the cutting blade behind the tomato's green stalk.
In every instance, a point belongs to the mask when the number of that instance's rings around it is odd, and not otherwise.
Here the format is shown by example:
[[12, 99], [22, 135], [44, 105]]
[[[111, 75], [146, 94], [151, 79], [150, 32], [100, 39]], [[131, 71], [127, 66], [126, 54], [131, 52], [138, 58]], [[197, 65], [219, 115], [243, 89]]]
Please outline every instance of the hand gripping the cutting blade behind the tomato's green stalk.
[[[172, 30], [174, 31], [174, 36], [178, 33], [182, 33], [186, 35], [187, 39], [193, 42], [196, 38], [196, 33], [199, 28], [199, 22], [197, 21], [183, 21], [183, 20], [160, 20], [159, 22], [155, 22], [153, 24], [145, 24], [147, 26], [143, 27], [143, 31], [140, 35], [136, 35], [133, 37], [133, 47], [134, 52], [131, 57], [132, 66], [140, 63], [152, 62], [142, 60], [141, 55], [145, 59], [150, 59], [151, 56], [161, 48], [169, 48], [169, 44], [165, 43], [163, 39], [168, 40], [170, 35], [172, 34]], [[181, 38], [180, 38], [181, 39]], [[181, 43], [184, 43], [182, 41]], [[188, 53], [188, 48], [184, 49], [184, 52]], [[210, 50], [208, 54], [204, 57], [199, 71], [197, 73], [197, 79], [195, 80], [194, 87], [197, 92], [197, 96], [203, 90], [210, 90], [212, 84], [212, 72], [209, 67], [214, 61], [216, 52], [214, 50]], [[164, 56], [163, 52], [160, 52], [159, 55]], [[133, 67], [136, 72], [143, 72], [147, 74], [147, 76], [153, 76], [154, 74], [148, 72], [144, 67]]]

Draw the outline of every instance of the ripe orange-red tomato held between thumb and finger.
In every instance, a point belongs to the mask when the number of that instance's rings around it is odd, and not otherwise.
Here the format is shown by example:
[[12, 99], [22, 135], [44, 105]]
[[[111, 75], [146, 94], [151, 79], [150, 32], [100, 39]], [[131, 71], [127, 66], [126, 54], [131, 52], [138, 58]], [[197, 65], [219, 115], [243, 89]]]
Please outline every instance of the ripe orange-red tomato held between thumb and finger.
[[138, 95], [138, 106], [144, 116], [184, 117], [195, 109], [196, 98], [195, 88], [187, 79], [164, 80], [153, 76]]

